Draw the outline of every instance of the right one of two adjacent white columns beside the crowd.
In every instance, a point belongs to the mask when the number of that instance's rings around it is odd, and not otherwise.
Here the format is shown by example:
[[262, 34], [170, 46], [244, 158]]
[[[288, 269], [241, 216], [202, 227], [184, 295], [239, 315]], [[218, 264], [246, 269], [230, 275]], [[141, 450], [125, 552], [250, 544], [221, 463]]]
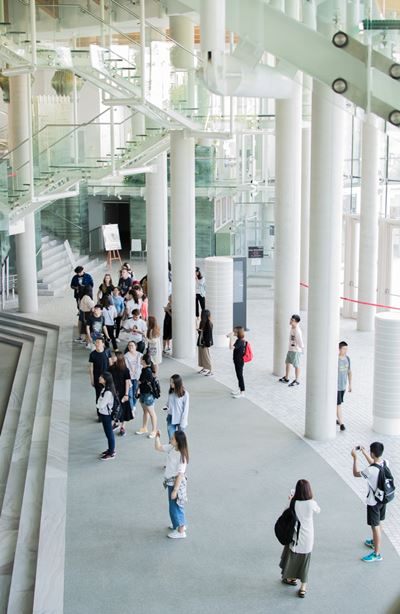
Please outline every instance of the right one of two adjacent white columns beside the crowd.
[[175, 358], [195, 352], [194, 139], [171, 131], [172, 349]]

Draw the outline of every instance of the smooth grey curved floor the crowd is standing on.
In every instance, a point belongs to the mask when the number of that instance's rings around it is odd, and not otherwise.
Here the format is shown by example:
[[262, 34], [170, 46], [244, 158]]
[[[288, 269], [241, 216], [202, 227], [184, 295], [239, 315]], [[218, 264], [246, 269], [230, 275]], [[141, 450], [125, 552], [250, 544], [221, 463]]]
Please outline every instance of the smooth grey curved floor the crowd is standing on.
[[[386, 537], [384, 562], [359, 559], [369, 536], [365, 506], [295, 433], [248, 400], [172, 359], [191, 393], [188, 537], [166, 537], [163, 456], [153, 442], [117, 439], [117, 458], [95, 421], [87, 351], [73, 348], [65, 568], [65, 614], [258, 614], [399, 612], [400, 559]], [[157, 413], [165, 438], [161, 407]], [[279, 580], [273, 525], [299, 478], [322, 508], [306, 600]], [[389, 510], [390, 511], [390, 510]], [[394, 609], [392, 609], [394, 608]]]

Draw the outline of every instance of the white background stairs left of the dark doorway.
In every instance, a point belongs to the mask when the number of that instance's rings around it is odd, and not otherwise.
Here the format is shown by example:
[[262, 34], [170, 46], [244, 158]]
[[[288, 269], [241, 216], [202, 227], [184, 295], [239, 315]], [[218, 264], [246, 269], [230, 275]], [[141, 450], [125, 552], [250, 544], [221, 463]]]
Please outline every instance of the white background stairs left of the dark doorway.
[[80, 256], [73, 252], [74, 266], [59, 239], [49, 236], [42, 238], [42, 268], [38, 271], [38, 294], [45, 296], [63, 296], [69, 289], [75, 266], [81, 265], [91, 275], [105, 270], [105, 261], [89, 256]]

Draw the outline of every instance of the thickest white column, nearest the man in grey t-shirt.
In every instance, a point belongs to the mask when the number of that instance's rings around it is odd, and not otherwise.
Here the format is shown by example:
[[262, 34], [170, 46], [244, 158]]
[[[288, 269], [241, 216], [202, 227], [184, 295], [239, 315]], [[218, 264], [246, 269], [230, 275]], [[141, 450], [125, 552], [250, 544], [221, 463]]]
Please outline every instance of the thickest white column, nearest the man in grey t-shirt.
[[314, 81], [306, 437], [316, 440], [333, 439], [336, 434], [345, 125], [342, 102], [328, 87]]

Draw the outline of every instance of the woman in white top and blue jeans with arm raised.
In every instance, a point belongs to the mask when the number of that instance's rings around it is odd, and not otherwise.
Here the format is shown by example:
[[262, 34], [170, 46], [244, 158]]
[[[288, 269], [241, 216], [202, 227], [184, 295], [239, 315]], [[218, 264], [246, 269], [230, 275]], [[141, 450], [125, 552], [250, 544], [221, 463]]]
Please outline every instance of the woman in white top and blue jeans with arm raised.
[[170, 443], [162, 445], [160, 431], [157, 431], [155, 449], [158, 452], [167, 452], [164, 486], [168, 489], [169, 516], [172, 523], [172, 531], [168, 533], [168, 537], [182, 539], [186, 537], [186, 468], [189, 462], [186, 435], [183, 431], [176, 431]]

